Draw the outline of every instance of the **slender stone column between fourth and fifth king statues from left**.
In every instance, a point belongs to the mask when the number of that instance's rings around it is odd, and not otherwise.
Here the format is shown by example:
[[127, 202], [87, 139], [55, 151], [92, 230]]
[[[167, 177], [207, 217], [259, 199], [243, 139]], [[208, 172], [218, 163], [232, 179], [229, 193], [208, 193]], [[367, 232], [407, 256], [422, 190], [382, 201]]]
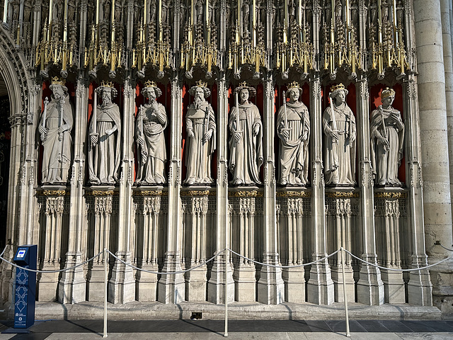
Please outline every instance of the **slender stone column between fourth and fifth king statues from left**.
[[[217, 81], [217, 251], [228, 248], [229, 213], [228, 213], [228, 86], [225, 75]], [[231, 254], [229, 254], [231, 259]], [[225, 303], [225, 253], [217, 256], [212, 265], [211, 278], [207, 283], [207, 300], [212, 303]], [[234, 280], [231, 265], [226, 266], [228, 282], [228, 301], [234, 300]]]

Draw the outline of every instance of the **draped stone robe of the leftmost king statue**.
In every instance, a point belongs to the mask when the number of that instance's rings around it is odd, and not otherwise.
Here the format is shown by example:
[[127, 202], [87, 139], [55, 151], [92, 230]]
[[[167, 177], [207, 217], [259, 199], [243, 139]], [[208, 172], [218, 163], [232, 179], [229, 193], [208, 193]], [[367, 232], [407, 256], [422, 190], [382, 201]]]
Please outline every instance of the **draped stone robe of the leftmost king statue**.
[[[60, 118], [60, 110], [61, 118]], [[73, 107], [69, 96], [64, 98], [64, 104], [59, 108], [59, 103], [52, 98], [47, 105], [45, 128], [47, 135], [42, 141], [42, 183], [66, 183], [68, 181], [69, 167], [71, 166], [72, 138], [71, 130], [74, 122]], [[40, 125], [44, 116], [41, 116]], [[58, 133], [60, 125], [66, 124], [68, 130]]]

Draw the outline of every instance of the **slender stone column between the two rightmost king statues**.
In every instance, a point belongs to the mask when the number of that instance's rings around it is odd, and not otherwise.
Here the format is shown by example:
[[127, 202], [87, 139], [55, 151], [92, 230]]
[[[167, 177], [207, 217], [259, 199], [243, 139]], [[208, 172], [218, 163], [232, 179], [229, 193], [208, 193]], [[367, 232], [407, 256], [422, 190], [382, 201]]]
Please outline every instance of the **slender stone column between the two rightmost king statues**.
[[[371, 158], [369, 152], [369, 93], [367, 79], [356, 83], [357, 92], [357, 149], [359, 152], [360, 225], [362, 225], [362, 259], [377, 264], [374, 229], [374, 196]], [[384, 285], [379, 268], [360, 263], [357, 282], [357, 302], [364, 305], [384, 303]]]

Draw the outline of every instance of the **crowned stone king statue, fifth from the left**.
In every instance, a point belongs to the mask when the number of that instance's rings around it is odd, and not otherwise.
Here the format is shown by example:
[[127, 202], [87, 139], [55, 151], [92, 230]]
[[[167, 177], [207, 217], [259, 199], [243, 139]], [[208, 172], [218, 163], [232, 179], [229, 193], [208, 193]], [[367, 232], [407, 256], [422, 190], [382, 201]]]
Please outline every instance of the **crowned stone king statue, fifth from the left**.
[[244, 81], [236, 87], [235, 94], [240, 97], [240, 102], [237, 107], [231, 108], [228, 121], [232, 183], [235, 186], [260, 184], [260, 166], [263, 164], [263, 123], [256, 105], [248, 101], [249, 96], [255, 96], [256, 90]]

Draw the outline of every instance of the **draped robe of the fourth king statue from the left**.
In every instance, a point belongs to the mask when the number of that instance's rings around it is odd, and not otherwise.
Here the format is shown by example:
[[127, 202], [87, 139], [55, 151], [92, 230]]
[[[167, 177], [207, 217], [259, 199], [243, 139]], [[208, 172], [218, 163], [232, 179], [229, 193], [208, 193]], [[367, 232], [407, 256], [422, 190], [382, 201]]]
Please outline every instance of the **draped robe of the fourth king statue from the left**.
[[[195, 137], [187, 136], [185, 166], [187, 172], [184, 183], [193, 181], [195, 184], [210, 184], [211, 155], [216, 147], [216, 124], [214, 111], [210, 103], [202, 102], [200, 108], [195, 108], [192, 103], [185, 115], [186, 130], [193, 130]], [[212, 130], [210, 140], [204, 141], [203, 137], [208, 130]]]

